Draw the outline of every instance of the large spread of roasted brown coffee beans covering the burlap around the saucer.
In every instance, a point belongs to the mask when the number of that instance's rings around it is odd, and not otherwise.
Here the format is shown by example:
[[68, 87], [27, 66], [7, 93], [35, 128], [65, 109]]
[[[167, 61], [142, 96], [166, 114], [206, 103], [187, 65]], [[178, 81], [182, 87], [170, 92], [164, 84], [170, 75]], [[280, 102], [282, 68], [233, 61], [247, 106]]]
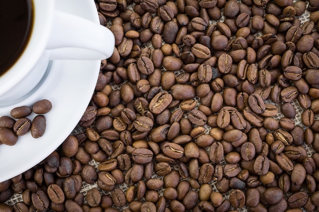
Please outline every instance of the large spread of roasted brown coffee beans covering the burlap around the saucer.
[[1, 183], [1, 211], [318, 211], [317, 0], [96, 6], [116, 46], [83, 133]]

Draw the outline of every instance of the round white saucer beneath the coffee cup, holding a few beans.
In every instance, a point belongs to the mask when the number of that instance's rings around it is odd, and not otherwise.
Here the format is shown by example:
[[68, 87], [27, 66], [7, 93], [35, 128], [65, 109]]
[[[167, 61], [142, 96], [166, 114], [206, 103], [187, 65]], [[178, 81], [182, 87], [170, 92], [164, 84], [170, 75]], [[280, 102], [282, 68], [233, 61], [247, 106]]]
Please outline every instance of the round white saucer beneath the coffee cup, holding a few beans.
[[[93, 0], [56, 0], [56, 7], [99, 23]], [[52, 102], [51, 111], [45, 114], [46, 130], [42, 137], [35, 139], [29, 132], [20, 136], [14, 146], [0, 145], [0, 182], [41, 162], [72, 132], [91, 100], [99, 67], [100, 60], [54, 60], [39, 89], [19, 103], [0, 108], [3, 116], [10, 115], [14, 107], [32, 106], [41, 99]]]

